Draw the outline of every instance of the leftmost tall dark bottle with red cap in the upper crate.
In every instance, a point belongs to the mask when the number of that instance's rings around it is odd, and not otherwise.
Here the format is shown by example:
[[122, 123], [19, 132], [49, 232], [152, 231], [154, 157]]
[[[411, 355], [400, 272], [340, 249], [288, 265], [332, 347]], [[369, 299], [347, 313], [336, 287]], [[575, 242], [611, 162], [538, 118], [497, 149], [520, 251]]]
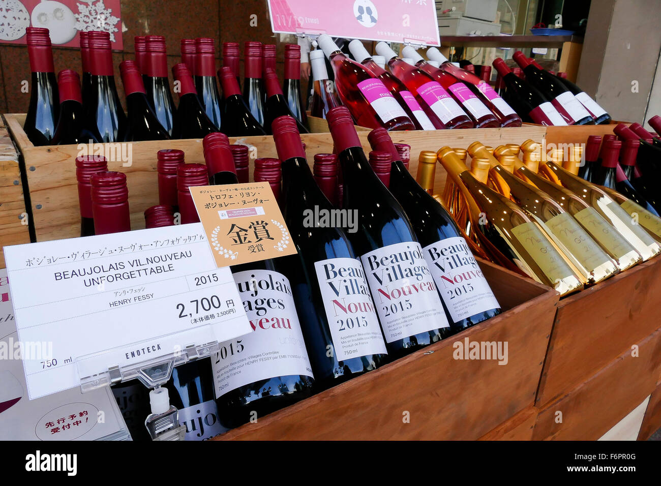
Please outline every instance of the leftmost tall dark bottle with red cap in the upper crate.
[[23, 130], [34, 145], [51, 145], [59, 118], [58, 81], [47, 28], [28, 27], [30, 106]]

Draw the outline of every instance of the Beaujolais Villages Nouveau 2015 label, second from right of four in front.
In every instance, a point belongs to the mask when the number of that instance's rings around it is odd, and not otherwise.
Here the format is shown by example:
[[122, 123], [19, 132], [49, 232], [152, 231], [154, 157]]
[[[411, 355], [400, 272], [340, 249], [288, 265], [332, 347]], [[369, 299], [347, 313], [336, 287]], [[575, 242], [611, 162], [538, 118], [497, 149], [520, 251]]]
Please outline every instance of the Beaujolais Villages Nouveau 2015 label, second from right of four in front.
[[449, 327], [418, 243], [395, 243], [360, 259], [387, 343]]

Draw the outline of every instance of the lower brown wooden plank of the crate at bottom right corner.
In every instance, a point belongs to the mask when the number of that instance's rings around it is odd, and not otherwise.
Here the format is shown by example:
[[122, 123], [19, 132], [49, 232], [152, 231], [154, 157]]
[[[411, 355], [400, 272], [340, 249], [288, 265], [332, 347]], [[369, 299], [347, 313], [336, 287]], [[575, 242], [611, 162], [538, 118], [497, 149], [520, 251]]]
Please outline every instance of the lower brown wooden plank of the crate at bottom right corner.
[[[639, 356], [631, 355], [633, 344], [639, 346]], [[533, 440], [596, 440], [652, 393], [661, 370], [661, 329], [630, 341], [628, 347], [594, 376], [543, 407]]]

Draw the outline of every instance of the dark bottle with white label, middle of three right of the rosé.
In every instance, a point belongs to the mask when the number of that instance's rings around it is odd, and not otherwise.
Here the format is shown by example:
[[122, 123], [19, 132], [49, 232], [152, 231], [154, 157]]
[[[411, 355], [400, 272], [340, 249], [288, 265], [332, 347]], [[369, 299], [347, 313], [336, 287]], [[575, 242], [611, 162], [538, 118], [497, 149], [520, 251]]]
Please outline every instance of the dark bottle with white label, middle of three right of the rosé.
[[512, 57], [523, 69], [525, 80], [551, 100], [568, 125], [594, 124], [594, 118], [588, 110], [556, 76], [544, 69], [537, 69], [521, 51], [515, 52]]

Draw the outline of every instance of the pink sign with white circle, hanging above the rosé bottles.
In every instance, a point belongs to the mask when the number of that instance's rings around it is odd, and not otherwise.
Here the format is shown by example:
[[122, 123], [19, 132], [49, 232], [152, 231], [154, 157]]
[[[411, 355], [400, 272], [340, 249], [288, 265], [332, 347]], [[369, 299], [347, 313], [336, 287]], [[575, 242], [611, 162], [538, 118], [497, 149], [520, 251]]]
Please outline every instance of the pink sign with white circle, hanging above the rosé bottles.
[[268, 0], [273, 32], [440, 46], [434, 0]]

